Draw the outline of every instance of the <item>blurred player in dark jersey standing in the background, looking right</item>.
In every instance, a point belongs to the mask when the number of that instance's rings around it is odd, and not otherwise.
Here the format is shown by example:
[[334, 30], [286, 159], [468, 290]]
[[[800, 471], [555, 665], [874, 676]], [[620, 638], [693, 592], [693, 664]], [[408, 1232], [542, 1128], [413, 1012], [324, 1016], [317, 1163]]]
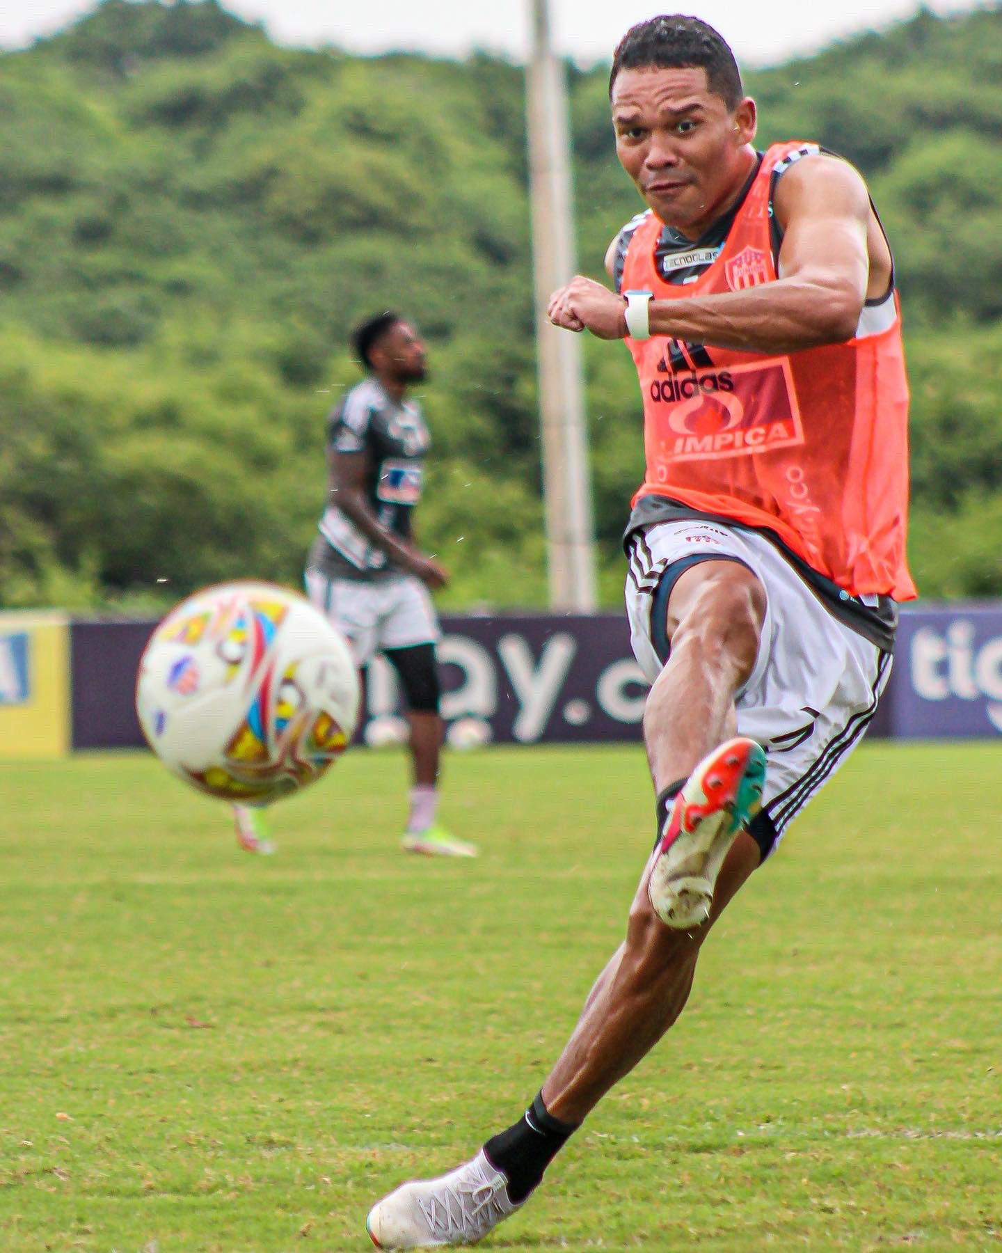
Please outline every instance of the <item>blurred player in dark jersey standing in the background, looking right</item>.
[[[427, 377], [425, 345], [410, 322], [383, 312], [352, 337], [366, 371], [334, 407], [327, 426], [329, 496], [306, 568], [309, 599], [348, 639], [359, 669], [380, 652], [397, 672], [410, 725], [412, 787], [407, 852], [475, 857], [476, 847], [441, 823], [438, 763], [442, 718], [435, 644], [438, 619], [428, 589], [445, 569], [415, 543], [431, 437], [421, 407], [407, 398]], [[262, 811], [235, 807], [237, 838], [248, 852], [271, 852]]]

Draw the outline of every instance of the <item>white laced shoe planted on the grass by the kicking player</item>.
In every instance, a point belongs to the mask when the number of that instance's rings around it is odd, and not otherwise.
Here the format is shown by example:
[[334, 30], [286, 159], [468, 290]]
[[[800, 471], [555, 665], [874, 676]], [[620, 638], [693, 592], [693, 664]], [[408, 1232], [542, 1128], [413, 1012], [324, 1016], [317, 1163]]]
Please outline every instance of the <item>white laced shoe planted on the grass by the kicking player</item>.
[[447, 1175], [401, 1184], [372, 1207], [366, 1230], [377, 1249], [473, 1244], [519, 1209], [509, 1200], [507, 1183], [481, 1149]]

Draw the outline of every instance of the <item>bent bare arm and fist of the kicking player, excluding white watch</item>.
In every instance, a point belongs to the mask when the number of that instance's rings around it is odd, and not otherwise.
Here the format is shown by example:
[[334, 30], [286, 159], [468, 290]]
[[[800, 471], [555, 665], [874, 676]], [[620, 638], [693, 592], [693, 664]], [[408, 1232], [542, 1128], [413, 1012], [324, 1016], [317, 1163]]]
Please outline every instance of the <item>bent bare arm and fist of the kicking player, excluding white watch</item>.
[[[867, 296], [869, 197], [833, 157], [805, 157], [779, 180], [779, 278], [739, 292], [651, 301], [651, 335], [746, 352], [797, 352], [852, 338]], [[577, 277], [554, 292], [550, 320], [600, 338], [626, 335], [625, 301]]]

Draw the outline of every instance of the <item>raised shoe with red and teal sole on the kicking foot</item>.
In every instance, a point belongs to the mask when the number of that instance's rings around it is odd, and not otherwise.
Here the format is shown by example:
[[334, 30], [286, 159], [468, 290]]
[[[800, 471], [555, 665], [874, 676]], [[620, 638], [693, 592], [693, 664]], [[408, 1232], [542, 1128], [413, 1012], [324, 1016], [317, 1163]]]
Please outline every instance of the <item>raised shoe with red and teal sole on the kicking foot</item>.
[[665, 926], [684, 931], [706, 921], [716, 876], [734, 837], [762, 808], [764, 782], [765, 753], [744, 737], [714, 748], [689, 776], [648, 881]]

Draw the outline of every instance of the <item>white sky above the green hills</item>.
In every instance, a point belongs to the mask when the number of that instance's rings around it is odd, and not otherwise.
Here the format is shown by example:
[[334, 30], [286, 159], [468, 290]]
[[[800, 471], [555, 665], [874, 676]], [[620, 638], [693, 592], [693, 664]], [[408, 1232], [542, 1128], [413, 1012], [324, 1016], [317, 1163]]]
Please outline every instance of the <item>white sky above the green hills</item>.
[[[462, 55], [475, 48], [524, 59], [530, 0], [223, 0], [263, 21], [277, 43], [334, 44], [352, 51], [407, 49]], [[609, 60], [628, 26], [659, 13], [695, 13], [731, 44], [744, 64], [773, 65], [833, 39], [908, 18], [917, 0], [550, 0], [559, 51], [582, 63]], [[0, 46], [50, 35], [93, 9], [94, 0], [0, 0]], [[977, 8], [971, 0], [932, 0], [936, 13]]]

